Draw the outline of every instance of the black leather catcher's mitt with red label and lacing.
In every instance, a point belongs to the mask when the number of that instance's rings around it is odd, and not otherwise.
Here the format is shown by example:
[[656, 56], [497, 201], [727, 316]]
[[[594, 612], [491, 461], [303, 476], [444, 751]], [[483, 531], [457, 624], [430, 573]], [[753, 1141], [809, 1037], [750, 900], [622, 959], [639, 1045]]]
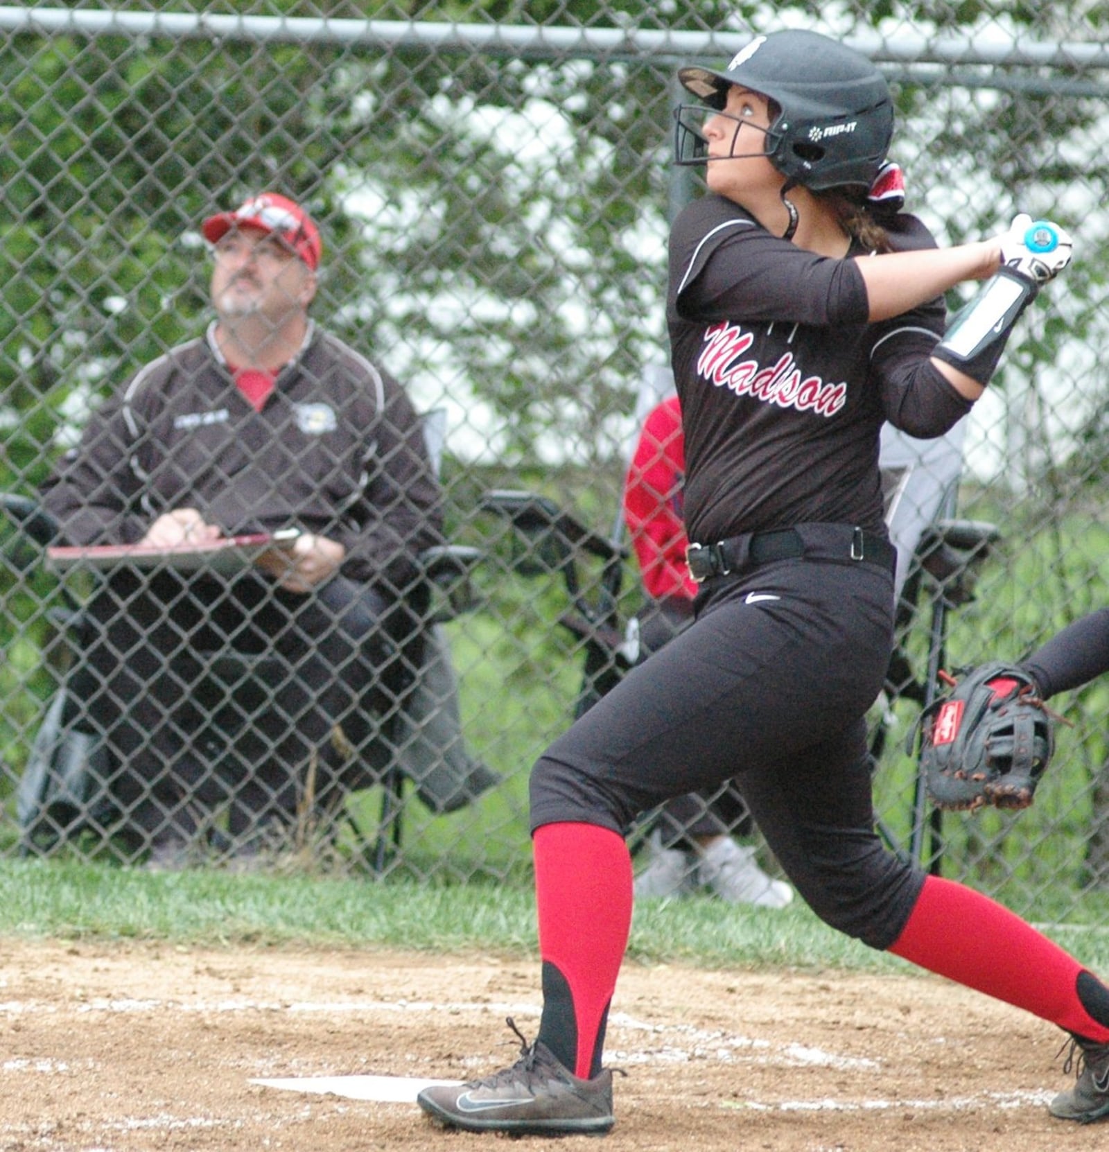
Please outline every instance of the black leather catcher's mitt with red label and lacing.
[[1053, 714], [1024, 669], [983, 664], [922, 713], [920, 768], [939, 808], [1027, 808], [1055, 749]]

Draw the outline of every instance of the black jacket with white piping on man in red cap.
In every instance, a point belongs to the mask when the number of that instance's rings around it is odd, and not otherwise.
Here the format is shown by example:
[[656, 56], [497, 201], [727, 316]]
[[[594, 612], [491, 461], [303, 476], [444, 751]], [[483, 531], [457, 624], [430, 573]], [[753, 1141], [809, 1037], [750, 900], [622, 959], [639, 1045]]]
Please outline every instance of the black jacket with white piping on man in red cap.
[[131, 544], [196, 508], [225, 533], [297, 526], [347, 548], [342, 571], [403, 589], [441, 543], [440, 491], [401, 386], [310, 327], [260, 412], [213, 339], [170, 349], [90, 419], [45, 487], [70, 544]]

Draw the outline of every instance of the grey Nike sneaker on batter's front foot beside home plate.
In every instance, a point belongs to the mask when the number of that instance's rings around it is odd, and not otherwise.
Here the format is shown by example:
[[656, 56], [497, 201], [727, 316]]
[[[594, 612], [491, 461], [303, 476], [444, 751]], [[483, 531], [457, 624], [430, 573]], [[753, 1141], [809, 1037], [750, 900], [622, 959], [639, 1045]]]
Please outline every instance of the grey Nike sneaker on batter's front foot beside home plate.
[[417, 1104], [447, 1128], [518, 1136], [603, 1136], [613, 1115], [613, 1074], [578, 1079], [555, 1060], [540, 1040], [519, 1037], [521, 1059], [503, 1071], [468, 1084], [425, 1087]]

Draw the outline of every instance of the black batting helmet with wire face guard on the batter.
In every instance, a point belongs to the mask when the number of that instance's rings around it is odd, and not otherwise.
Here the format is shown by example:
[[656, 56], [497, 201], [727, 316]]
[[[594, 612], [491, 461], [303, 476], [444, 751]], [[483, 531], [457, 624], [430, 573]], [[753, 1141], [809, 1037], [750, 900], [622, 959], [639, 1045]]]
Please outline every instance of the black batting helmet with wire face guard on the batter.
[[[735, 84], [781, 109], [766, 136], [766, 154], [784, 176], [813, 191], [869, 188], [894, 132], [894, 103], [886, 78], [861, 53], [819, 32], [784, 31], [755, 37], [723, 71], [692, 66], [678, 71], [683, 86], [721, 111]], [[689, 106], [685, 106], [689, 107]], [[683, 136], [696, 128], [677, 118], [678, 164]]]

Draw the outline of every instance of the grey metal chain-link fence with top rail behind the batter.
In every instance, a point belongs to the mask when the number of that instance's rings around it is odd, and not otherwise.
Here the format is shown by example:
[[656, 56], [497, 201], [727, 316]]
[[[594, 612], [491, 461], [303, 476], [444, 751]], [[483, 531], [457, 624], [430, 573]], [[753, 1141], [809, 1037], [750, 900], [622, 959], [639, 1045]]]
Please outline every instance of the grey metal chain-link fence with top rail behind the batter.
[[[1079, 3], [845, 2], [819, 21], [810, 5], [704, 0], [0, 9], [0, 488], [16, 498], [0, 529], [3, 849], [139, 862], [173, 826], [177, 849], [242, 864], [258, 844], [264, 861], [427, 877], [525, 864], [530, 766], [635, 655], [628, 624], [645, 605], [622, 490], [667, 358], [668, 220], [697, 194], [669, 162], [674, 71], [727, 59], [751, 29], [802, 24], [887, 73], [907, 207], [941, 242], [996, 233], [1017, 211], [1074, 233], [1072, 268], [1026, 313], [965, 422], [956, 487], [933, 492], [925, 518], [958, 518], [963, 535], [933, 532], [910, 574], [873, 720], [894, 843], [1041, 918], [1100, 916], [1109, 687], [1062, 700], [1073, 727], [1019, 816], [940, 820], [904, 745], [929, 661], [1020, 657], [1103, 601], [1104, 22]], [[430, 576], [390, 575], [407, 615], [386, 621], [373, 685], [331, 626], [320, 639], [281, 609], [273, 581], [253, 581], [260, 601], [213, 628], [234, 577], [203, 574], [222, 591], [198, 607], [195, 578], [166, 561], [139, 575], [47, 562], [41, 486], [91, 418], [108, 430], [104, 475], [143, 478], [149, 458], [112, 430], [151, 434], [153, 414], [140, 396], [101, 402], [170, 349], [205, 347], [218, 262], [200, 222], [264, 190], [319, 222], [311, 317], [420, 414], [374, 425], [375, 448], [413, 453], [418, 471], [430, 441], [443, 495], [449, 547]], [[193, 461], [203, 499], [227, 499], [241, 471], [266, 476], [256, 515], [225, 528], [278, 526], [275, 493], [301, 468], [284, 455], [294, 433], [258, 440], [166, 374], [170, 431], [210, 433]], [[334, 417], [294, 407], [302, 423]], [[348, 448], [313, 473], [337, 502]], [[398, 458], [371, 462], [371, 490]], [[412, 475], [386, 485], [382, 520], [419, 509]], [[891, 493], [903, 475], [890, 470]], [[135, 544], [159, 510], [137, 490], [113, 499], [130, 517], [121, 536], [68, 543]], [[105, 597], [134, 620], [159, 581], [170, 591], [139, 632], [173, 639], [144, 662], [142, 641], [105, 623]], [[126, 675], [104, 664], [108, 636]]]

